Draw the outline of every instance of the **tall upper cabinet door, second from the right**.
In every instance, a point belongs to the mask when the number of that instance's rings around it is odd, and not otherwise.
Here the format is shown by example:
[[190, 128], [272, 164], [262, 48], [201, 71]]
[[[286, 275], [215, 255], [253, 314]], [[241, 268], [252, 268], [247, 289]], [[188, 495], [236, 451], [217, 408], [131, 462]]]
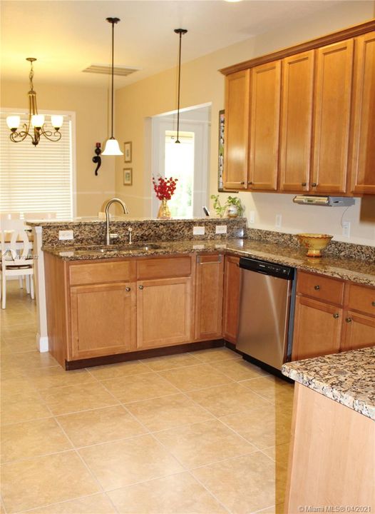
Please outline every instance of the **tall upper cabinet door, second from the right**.
[[312, 192], [345, 193], [353, 40], [317, 50]]

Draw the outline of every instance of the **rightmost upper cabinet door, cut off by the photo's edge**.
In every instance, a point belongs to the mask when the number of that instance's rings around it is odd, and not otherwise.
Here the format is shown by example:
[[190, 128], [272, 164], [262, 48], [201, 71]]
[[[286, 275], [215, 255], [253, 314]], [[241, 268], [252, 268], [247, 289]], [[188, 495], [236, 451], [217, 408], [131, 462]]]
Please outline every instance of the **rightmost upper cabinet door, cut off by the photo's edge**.
[[375, 194], [375, 32], [356, 39], [351, 192]]

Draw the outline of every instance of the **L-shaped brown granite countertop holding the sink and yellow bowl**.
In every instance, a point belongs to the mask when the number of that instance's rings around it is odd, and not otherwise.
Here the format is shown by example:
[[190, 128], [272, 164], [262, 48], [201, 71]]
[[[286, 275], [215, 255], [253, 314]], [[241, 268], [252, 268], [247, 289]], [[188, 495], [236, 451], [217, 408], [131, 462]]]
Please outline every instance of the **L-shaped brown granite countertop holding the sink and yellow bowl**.
[[[155, 244], [155, 242], [151, 243]], [[304, 271], [321, 273], [322, 275], [341, 278], [367, 286], [375, 287], [375, 263], [349, 258], [323, 256], [322, 258], [309, 258], [305, 256], [304, 248], [291, 248], [278, 243], [257, 241], [255, 239], [210, 239], [198, 241], [169, 241], [157, 242], [160, 248], [145, 250], [129, 249], [125, 245], [116, 250], [115, 245], [111, 251], [99, 253], [95, 248], [43, 246], [43, 251], [52, 253], [66, 261], [96, 260], [103, 258], [126, 258], [130, 256], [160, 256], [178, 253], [202, 253], [220, 251], [237, 256], [262, 258], [265, 261], [292, 266]], [[147, 243], [134, 242], [133, 246], [147, 246]], [[85, 250], [85, 248], [88, 248]], [[106, 248], [98, 245], [98, 248]]]

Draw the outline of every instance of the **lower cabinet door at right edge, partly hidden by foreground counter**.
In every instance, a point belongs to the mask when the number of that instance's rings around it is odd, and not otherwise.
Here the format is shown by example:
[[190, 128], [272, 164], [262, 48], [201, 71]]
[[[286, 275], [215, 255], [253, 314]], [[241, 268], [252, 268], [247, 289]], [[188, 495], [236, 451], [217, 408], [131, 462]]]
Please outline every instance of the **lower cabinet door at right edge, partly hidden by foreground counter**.
[[343, 331], [341, 351], [375, 345], [375, 318], [352, 311], [344, 311]]

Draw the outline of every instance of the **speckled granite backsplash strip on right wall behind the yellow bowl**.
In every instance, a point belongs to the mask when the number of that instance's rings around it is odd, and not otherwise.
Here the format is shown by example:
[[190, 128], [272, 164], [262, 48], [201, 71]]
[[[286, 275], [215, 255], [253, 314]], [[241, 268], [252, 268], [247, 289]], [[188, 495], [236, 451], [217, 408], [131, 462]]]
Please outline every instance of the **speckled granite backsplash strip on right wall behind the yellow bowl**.
[[[264, 231], [260, 228], [246, 228], [245, 238], [256, 239], [257, 241], [269, 241], [283, 246], [299, 248], [297, 236], [290, 233]], [[361, 259], [363, 261], [375, 262], [375, 246], [357, 245], [353, 243], [342, 243], [331, 241], [322, 252], [323, 255], [350, 259]]]

